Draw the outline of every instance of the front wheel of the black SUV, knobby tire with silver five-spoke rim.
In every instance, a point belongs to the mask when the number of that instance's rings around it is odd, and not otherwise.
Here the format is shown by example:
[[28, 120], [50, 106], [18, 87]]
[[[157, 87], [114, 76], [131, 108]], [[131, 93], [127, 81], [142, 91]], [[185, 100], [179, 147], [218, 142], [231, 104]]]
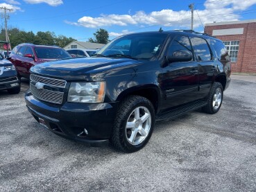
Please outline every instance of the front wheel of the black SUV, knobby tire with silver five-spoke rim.
[[152, 103], [142, 96], [128, 96], [119, 105], [110, 141], [118, 150], [135, 152], [148, 143], [154, 125]]

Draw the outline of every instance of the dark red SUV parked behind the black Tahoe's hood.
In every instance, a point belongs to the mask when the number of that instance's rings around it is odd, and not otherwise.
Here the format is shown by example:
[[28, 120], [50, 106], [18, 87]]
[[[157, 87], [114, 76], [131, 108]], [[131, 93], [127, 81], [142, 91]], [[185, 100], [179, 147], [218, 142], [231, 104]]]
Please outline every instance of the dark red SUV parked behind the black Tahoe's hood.
[[12, 49], [8, 60], [15, 65], [18, 78], [29, 78], [29, 69], [42, 62], [71, 58], [71, 55], [59, 46], [19, 44]]

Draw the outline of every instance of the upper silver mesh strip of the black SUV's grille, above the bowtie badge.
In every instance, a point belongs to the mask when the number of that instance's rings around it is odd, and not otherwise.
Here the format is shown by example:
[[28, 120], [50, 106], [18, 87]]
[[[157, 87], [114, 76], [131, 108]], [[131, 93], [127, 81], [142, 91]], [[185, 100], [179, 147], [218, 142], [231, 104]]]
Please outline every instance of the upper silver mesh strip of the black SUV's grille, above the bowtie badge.
[[31, 74], [31, 81], [33, 82], [42, 82], [46, 85], [51, 85], [51, 86], [55, 86], [55, 87], [62, 87], [65, 88], [66, 87], [66, 81], [65, 80], [60, 80], [60, 79], [54, 79], [54, 78], [46, 78], [43, 76], [37, 76], [35, 74]]

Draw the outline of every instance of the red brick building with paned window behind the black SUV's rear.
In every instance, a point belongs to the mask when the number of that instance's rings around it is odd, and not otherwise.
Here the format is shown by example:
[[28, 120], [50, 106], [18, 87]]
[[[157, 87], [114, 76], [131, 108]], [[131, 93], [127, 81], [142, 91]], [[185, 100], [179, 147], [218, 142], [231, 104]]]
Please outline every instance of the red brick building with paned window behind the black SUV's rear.
[[232, 72], [256, 73], [256, 19], [206, 24], [205, 33], [224, 42]]

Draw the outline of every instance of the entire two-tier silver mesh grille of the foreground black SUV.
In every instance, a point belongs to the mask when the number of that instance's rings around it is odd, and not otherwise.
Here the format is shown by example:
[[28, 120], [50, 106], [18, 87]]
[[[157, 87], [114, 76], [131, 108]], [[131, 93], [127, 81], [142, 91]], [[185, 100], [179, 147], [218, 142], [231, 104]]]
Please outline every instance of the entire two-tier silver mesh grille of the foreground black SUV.
[[55, 104], [62, 103], [64, 92], [53, 91], [45, 88], [37, 89], [37, 87], [35, 87], [36, 82], [42, 82], [44, 83], [44, 85], [49, 85], [50, 87], [63, 88], [63, 86], [65, 87], [67, 83], [65, 80], [46, 78], [44, 76], [37, 76], [37, 75], [31, 74], [30, 88], [33, 96], [35, 96], [36, 98], [42, 101], [46, 101], [49, 103], [55, 103]]

